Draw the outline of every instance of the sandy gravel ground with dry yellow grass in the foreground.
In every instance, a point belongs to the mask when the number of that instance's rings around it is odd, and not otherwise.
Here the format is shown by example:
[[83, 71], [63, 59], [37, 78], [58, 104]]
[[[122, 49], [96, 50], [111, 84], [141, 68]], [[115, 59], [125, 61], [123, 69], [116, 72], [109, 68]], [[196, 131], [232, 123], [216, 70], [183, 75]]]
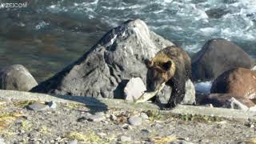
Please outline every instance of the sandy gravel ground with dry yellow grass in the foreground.
[[[66, 103], [34, 111], [27, 109], [31, 103], [0, 102], [0, 138], [6, 143], [256, 143], [254, 122]], [[128, 124], [127, 118], [136, 115], [142, 123]]]

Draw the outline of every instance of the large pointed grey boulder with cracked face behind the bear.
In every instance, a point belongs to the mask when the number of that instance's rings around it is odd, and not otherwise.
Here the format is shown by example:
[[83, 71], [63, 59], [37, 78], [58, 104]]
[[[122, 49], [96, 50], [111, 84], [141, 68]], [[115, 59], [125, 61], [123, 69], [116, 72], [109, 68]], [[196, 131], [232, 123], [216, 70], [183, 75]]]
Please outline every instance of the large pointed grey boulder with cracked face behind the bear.
[[144, 60], [174, 45], [137, 19], [110, 30], [78, 61], [34, 87], [33, 92], [123, 98], [130, 78], [146, 83]]

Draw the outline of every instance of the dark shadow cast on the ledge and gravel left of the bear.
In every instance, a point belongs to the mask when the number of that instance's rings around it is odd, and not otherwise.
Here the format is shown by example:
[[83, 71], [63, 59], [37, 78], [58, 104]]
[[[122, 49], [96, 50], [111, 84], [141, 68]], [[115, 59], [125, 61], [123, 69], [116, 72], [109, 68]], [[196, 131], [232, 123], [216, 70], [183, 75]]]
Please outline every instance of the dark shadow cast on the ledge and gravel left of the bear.
[[74, 102], [80, 102], [86, 105], [90, 109], [91, 114], [95, 114], [97, 112], [102, 112], [107, 110], [107, 106], [105, 103], [100, 102], [97, 98], [92, 97], [82, 97], [82, 96], [70, 96], [70, 95], [53, 95], [57, 98], [62, 98]]

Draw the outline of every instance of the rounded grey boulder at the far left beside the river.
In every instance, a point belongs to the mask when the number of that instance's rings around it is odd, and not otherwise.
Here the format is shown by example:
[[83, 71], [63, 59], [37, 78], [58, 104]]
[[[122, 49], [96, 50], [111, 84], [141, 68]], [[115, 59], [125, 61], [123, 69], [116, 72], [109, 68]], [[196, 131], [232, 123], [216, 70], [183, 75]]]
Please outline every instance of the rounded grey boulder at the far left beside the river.
[[29, 91], [37, 85], [38, 82], [22, 65], [6, 66], [0, 70], [1, 90]]

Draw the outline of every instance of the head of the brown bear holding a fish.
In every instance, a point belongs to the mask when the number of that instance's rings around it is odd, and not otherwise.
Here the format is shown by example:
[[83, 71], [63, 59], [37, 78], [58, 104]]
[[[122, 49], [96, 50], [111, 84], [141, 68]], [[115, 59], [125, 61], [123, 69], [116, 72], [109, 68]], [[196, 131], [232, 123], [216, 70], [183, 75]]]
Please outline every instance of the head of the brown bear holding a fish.
[[153, 58], [146, 60], [148, 68], [148, 86], [150, 90], [157, 90], [162, 83], [168, 82], [174, 77], [175, 64], [170, 58]]

